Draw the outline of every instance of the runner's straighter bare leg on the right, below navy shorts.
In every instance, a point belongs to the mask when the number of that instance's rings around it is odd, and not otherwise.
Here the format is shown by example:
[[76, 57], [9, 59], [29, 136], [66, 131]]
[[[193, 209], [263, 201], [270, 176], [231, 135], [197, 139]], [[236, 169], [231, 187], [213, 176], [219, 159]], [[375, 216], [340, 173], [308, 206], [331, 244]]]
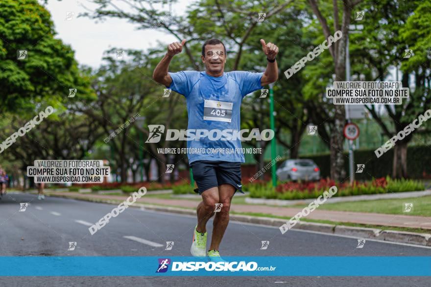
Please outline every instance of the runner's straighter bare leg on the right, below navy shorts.
[[218, 250], [221, 239], [226, 231], [229, 223], [229, 210], [231, 206], [231, 199], [235, 193], [235, 187], [230, 184], [222, 184], [218, 187], [219, 201], [223, 203], [221, 211], [217, 212], [213, 222], [213, 235], [211, 237], [210, 250]]

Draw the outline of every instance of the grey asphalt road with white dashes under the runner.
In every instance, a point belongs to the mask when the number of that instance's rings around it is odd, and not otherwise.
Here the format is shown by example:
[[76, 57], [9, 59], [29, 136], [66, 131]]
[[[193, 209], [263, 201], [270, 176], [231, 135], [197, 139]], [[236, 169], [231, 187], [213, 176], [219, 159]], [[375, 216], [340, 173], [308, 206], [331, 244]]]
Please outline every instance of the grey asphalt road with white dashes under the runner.
[[[20, 203], [28, 202], [24, 212]], [[191, 256], [196, 219], [128, 208], [93, 236], [88, 224], [114, 205], [8, 194], [0, 200], [0, 256]], [[207, 226], [211, 234], [212, 221]], [[210, 238], [210, 236], [209, 236]], [[266, 250], [261, 241], [269, 240]], [[172, 250], [165, 250], [173, 241]], [[68, 251], [69, 242], [77, 242]], [[160, 244], [162, 246], [157, 246]], [[155, 246], [156, 245], [156, 246]], [[231, 216], [223, 256], [431, 256], [431, 248], [246, 224]], [[72, 253], [73, 252], [73, 253]], [[1, 266], [0, 266], [1, 268]], [[38, 268], [38, 266], [35, 266]], [[408, 267], [407, 267], [408, 268]], [[2, 277], [0, 286], [429, 286], [429, 277]]]

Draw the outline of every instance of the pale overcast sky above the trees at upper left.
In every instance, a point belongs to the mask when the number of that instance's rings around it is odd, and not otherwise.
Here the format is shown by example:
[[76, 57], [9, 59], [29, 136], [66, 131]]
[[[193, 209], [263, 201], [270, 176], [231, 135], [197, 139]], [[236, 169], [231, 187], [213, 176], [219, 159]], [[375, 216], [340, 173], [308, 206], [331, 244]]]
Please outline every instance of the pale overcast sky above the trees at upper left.
[[[120, 7], [126, 7], [122, 1], [114, 1]], [[42, 0], [39, 3], [44, 4]], [[192, 0], [178, 0], [172, 5], [173, 15], [183, 15], [186, 7]], [[57, 32], [55, 38], [63, 43], [71, 45], [75, 51], [75, 59], [79, 64], [85, 64], [94, 68], [102, 64], [103, 52], [112, 47], [123, 49], [146, 50], [156, 47], [158, 41], [169, 44], [177, 41], [173, 36], [163, 32], [163, 28], [156, 30], [137, 30], [137, 25], [127, 20], [106, 18], [105, 22], [98, 22], [88, 17], [79, 17], [86, 11], [83, 5], [94, 9], [97, 5], [88, 0], [48, 0], [44, 6], [51, 13], [54, 29]], [[168, 12], [168, 5], [154, 5], [156, 8]], [[67, 12], [73, 12], [72, 20], [67, 21]]]

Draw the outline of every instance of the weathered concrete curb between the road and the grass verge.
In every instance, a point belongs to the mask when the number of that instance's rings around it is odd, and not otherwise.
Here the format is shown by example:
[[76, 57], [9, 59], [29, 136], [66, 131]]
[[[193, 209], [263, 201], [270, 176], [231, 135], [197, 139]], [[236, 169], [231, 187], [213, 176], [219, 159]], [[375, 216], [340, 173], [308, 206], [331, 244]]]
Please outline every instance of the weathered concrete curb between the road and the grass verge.
[[[110, 199], [89, 199], [89, 198], [83, 199], [83, 198], [64, 196], [64, 195], [61, 195], [61, 196], [53, 195], [53, 196], [59, 197], [59, 198], [69, 198], [69, 199], [110, 203], [110, 204], [118, 204], [121, 202], [119, 200], [110, 200]], [[196, 215], [196, 210], [186, 209], [181, 207], [160, 206], [160, 205], [143, 204], [143, 203], [136, 203], [131, 207], [140, 208], [141, 210], [152, 210], [152, 211], [170, 212], [170, 213], [177, 213], [177, 214]], [[257, 217], [257, 216], [239, 215], [239, 214], [231, 214], [230, 216], [235, 221], [255, 223], [255, 224], [261, 224], [261, 225], [279, 227], [284, 223], [286, 223], [286, 220], [277, 219], [277, 218]], [[419, 245], [419, 246], [431, 246], [431, 234], [428, 234], [428, 233], [382, 230], [377, 228], [354, 227], [354, 226], [334, 225], [334, 224], [327, 224], [327, 223], [316, 223], [316, 222], [305, 222], [305, 221], [299, 221], [295, 226], [293, 226], [293, 229], [310, 230], [310, 231], [317, 231], [317, 232], [328, 233], [328, 234], [352, 236], [352, 237], [357, 237], [358, 239], [376, 239], [381, 241], [389, 241], [389, 242], [397, 242], [397, 243], [409, 243], [409, 244]]]

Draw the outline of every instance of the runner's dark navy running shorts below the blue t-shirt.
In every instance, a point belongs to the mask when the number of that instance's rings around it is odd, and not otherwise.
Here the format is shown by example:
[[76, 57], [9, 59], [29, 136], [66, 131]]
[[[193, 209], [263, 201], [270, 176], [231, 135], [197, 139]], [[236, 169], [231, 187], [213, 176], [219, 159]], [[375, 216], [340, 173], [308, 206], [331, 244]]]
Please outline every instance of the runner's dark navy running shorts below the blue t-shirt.
[[242, 192], [241, 163], [229, 161], [196, 160], [190, 164], [197, 187], [194, 192], [201, 195], [209, 188], [228, 183], [235, 192]]

